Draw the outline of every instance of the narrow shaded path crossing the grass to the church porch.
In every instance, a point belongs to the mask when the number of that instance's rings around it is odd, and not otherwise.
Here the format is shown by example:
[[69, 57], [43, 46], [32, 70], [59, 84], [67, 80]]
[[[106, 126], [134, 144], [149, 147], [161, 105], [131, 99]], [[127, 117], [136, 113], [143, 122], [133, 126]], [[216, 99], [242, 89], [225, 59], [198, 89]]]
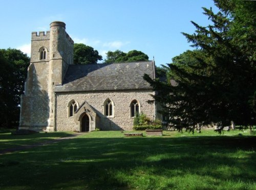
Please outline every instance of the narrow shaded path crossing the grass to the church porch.
[[82, 135], [82, 134], [84, 134], [84, 133], [75, 133], [70, 136], [51, 139], [51, 140], [47, 140], [47, 141], [44, 141], [41, 143], [36, 143], [36, 144], [32, 144], [32, 145], [23, 145], [23, 146], [13, 147], [13, 148], [9, 148], [9, 149], [4, 149], [4, 150], [0, 151], [0, 155], [11, 153], [11, 152], [16, 152], [16, 151], [22, 151], [22, 150], [26, 150], [26, 149], [30, 149], [30, 148], [34, 148], [34, 147], [49, 145], [49, 144], [53, 144], [53, 143], [58, 143], [61, 140], [76, 138], [77, 136]]

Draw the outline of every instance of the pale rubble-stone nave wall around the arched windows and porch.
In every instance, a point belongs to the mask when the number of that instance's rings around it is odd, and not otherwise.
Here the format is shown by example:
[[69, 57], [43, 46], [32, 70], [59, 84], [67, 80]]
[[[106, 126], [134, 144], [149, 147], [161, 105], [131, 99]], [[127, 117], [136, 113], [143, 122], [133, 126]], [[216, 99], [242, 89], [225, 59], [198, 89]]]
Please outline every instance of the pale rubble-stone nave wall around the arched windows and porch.
[[[130, 104], [133, 100], [140, 103], [140, 111], [152, 120], [155, 119], [155, 105], [148, 104], [152, 100], [152, 90], [126, 90], [126, 91], [102, 91], [102, 92], [58, 92], [55, 93], [55, 130], [75, 131], [74, 117], [69, 117], [68, 104], [75, 100], [79, 106], [86, 101], [99, 116], [99, 128], [101, 130], [132, 130], [134, 118], [131, 117]], [[104, 101], [111, 99], [114, 103], [114, 116], [106, 117], [104, 113]]]

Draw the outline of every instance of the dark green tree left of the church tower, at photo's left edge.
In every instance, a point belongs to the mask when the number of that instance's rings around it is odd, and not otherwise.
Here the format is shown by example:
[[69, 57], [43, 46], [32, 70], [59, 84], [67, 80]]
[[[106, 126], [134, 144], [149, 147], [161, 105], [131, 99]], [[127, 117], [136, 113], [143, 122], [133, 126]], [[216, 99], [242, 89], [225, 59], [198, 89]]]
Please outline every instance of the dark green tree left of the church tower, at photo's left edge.
[[0, 50], [0, 126], [18, 125], [20, 94], [24, 92], [29, 57], [16, 49]]

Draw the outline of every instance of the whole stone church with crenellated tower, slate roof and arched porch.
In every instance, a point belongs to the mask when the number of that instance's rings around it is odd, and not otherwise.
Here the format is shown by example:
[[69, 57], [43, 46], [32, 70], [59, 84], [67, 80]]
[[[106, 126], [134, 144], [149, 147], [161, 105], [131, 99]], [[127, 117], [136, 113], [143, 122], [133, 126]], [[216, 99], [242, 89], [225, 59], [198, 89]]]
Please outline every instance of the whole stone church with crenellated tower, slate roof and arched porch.
[[21, 96], [19, 129], [37, 131], [132, 130], [136, 113], [154, 120], [154, 61], [77, 65], [74, 41], [60, 21], [32, 32], [31, 62]]

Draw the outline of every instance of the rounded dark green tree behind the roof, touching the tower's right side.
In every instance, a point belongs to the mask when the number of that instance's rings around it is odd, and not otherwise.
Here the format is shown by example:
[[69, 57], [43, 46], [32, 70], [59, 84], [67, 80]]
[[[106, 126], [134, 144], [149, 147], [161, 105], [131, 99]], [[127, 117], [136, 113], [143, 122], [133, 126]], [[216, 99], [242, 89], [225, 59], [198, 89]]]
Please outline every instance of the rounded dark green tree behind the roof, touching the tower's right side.
[[74, 44], [75, 64], [97, 64], [99, 60], [102, 60], [102, 56], [93, 47], [82, 43]]

